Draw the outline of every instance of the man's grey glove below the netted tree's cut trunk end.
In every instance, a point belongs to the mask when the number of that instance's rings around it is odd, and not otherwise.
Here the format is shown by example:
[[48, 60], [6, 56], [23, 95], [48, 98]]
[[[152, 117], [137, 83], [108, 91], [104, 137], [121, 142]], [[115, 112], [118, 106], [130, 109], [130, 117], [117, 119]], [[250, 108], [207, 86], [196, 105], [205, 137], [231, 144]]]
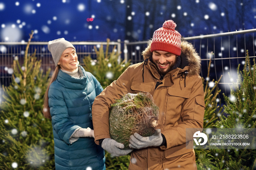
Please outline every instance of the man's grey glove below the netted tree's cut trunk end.
[[130, 136], [129, 140], [130, 148], [140, 149], [150, 146], [160, 146], [163, 142], [163, 137], [161, 135], [161, 130], [157, 129], [152, 136], [143, 137], [138, 133], [135, 133]]

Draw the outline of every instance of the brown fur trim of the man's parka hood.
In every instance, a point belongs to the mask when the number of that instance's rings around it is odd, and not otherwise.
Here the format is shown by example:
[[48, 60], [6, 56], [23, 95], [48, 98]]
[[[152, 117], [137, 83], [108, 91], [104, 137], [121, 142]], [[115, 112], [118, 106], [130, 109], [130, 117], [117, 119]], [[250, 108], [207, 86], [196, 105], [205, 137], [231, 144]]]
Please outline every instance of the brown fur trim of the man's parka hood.
[[[151, 43], [152, 40], [148, 41], [147, 48], [142, 52], [143, 59], [146, 60], [147, 58], [152, 57], [151, 52]], [[196, 53], [195, 48], [193, 45], [185, 40], [181, 41], [181, 66], [180, 68], [183, 69], [185, 66], [188, 66], [188, 75], [192, 76], [195, 74], [200, 74], [201, 72], [201, 58]]]

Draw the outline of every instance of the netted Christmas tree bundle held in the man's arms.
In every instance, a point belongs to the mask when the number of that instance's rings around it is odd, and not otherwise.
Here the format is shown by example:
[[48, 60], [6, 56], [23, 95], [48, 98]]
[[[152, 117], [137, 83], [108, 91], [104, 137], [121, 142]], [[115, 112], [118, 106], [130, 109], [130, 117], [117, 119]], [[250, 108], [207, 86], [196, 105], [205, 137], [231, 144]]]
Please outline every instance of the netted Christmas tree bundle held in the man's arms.
[[150, 93], [128, 93], [111, 105], [109, 111], [110, 137], [129, 149], [134, 133], [151, 136], [158, 124], [159, 109]]

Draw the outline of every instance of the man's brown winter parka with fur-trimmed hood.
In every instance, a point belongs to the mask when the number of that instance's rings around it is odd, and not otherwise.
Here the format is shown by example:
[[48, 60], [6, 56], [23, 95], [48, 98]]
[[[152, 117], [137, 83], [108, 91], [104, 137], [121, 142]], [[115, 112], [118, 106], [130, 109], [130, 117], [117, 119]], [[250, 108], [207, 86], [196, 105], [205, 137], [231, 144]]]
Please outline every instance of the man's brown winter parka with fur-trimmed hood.
[[186, 128], [203, 128], [205, 104], [199, 55], [190, 43], [182, 41], [180, 67], [160, 77], [156, 66], [147, 59], [152, 57], [150, 45], [143, 52], [144, 62], [129, 66], [95, 98], [92, 108], [95, 143], [99, 144], [99, 139], [110, 138], [110, 104], [127, 93], [153, 96], [159, 107], [157, 128], [166, 138], [166, 147], [133, 150], [129, 165], [133, 170], [174, 167], [169, 166], [169, 159], [192, 152], [192, 148], [186, 148]]

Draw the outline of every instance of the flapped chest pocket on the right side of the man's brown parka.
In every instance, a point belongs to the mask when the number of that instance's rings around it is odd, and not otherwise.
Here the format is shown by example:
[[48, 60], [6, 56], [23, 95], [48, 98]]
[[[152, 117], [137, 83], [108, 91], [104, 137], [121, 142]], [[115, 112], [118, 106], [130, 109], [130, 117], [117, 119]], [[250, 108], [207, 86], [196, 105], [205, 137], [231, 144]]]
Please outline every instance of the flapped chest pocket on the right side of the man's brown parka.
[[181, 113], [183, 102], [190, 97], [191, 89], [172, 88], [168, 89], [166, 115], [178, 116]]

